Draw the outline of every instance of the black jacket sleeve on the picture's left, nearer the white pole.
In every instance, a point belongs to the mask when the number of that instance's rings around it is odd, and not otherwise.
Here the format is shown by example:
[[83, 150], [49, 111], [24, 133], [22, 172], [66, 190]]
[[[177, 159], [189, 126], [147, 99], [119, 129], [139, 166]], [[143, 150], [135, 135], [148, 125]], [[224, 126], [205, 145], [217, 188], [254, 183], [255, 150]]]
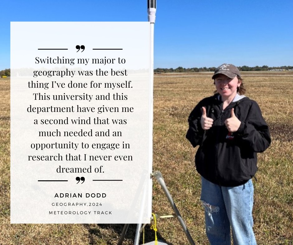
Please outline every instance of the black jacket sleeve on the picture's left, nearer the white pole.
[[201, 103], [197, 104], [188, 117], [189, 129], [186, 138], [193, 147], [201, 145], [204, 137], [204, 130], [201, 127]]

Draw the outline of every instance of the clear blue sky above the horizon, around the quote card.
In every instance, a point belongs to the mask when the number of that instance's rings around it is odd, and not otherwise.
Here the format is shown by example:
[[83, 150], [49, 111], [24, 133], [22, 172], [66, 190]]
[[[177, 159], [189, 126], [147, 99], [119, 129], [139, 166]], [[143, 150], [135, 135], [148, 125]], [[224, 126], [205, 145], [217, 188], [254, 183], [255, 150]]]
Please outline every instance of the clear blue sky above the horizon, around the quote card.
[[[10, 67], [10, 21], [147, 21], [146, 2], [2, 1], [0, 70]], [[157, 0], [154, 67], [292, 66], [292, 24], [291, 0]]]

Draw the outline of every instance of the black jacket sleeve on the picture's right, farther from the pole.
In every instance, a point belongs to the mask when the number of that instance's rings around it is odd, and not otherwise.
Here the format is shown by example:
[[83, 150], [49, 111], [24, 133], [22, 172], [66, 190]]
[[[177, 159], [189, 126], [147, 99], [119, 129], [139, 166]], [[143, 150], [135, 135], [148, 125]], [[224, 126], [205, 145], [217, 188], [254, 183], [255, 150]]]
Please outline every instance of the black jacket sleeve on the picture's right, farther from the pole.
[[255, 101], [252, 101], [247, 117], [241, 122], [237, 134], [243, 145], [250, 147], [254, 152], [263, 152], [270, 146], [269, 127]]

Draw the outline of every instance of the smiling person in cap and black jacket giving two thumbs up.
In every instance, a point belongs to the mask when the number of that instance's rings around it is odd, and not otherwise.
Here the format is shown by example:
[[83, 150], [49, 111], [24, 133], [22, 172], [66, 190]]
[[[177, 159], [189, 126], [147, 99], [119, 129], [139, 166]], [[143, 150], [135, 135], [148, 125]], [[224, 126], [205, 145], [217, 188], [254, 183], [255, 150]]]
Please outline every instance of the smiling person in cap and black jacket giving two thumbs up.
[[211, 245], [256, 244], [252, 230], [253, 184], [257, 152], [266, 150], [270, 132], [257, 102], [244, 95], [238, 68], [223, 64], [215, 72], [214, 96], [190, 113], [186, 138], [199, 146], [195, 166], [201, 175], [201, 201]]

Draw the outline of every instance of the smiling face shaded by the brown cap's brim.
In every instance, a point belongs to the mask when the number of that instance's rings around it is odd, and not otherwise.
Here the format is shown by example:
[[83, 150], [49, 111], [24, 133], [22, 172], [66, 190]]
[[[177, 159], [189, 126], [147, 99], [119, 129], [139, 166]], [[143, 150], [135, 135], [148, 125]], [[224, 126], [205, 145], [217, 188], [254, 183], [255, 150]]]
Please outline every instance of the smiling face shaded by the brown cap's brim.
[[234, 98], [237, 94], [237, 87], [239, 87], [240, 84], [241, 81], [238, 81], [237, 76], [232, 79], [223, 74], [219, 74], [215, 78], [216, 89], [223, 99]]

